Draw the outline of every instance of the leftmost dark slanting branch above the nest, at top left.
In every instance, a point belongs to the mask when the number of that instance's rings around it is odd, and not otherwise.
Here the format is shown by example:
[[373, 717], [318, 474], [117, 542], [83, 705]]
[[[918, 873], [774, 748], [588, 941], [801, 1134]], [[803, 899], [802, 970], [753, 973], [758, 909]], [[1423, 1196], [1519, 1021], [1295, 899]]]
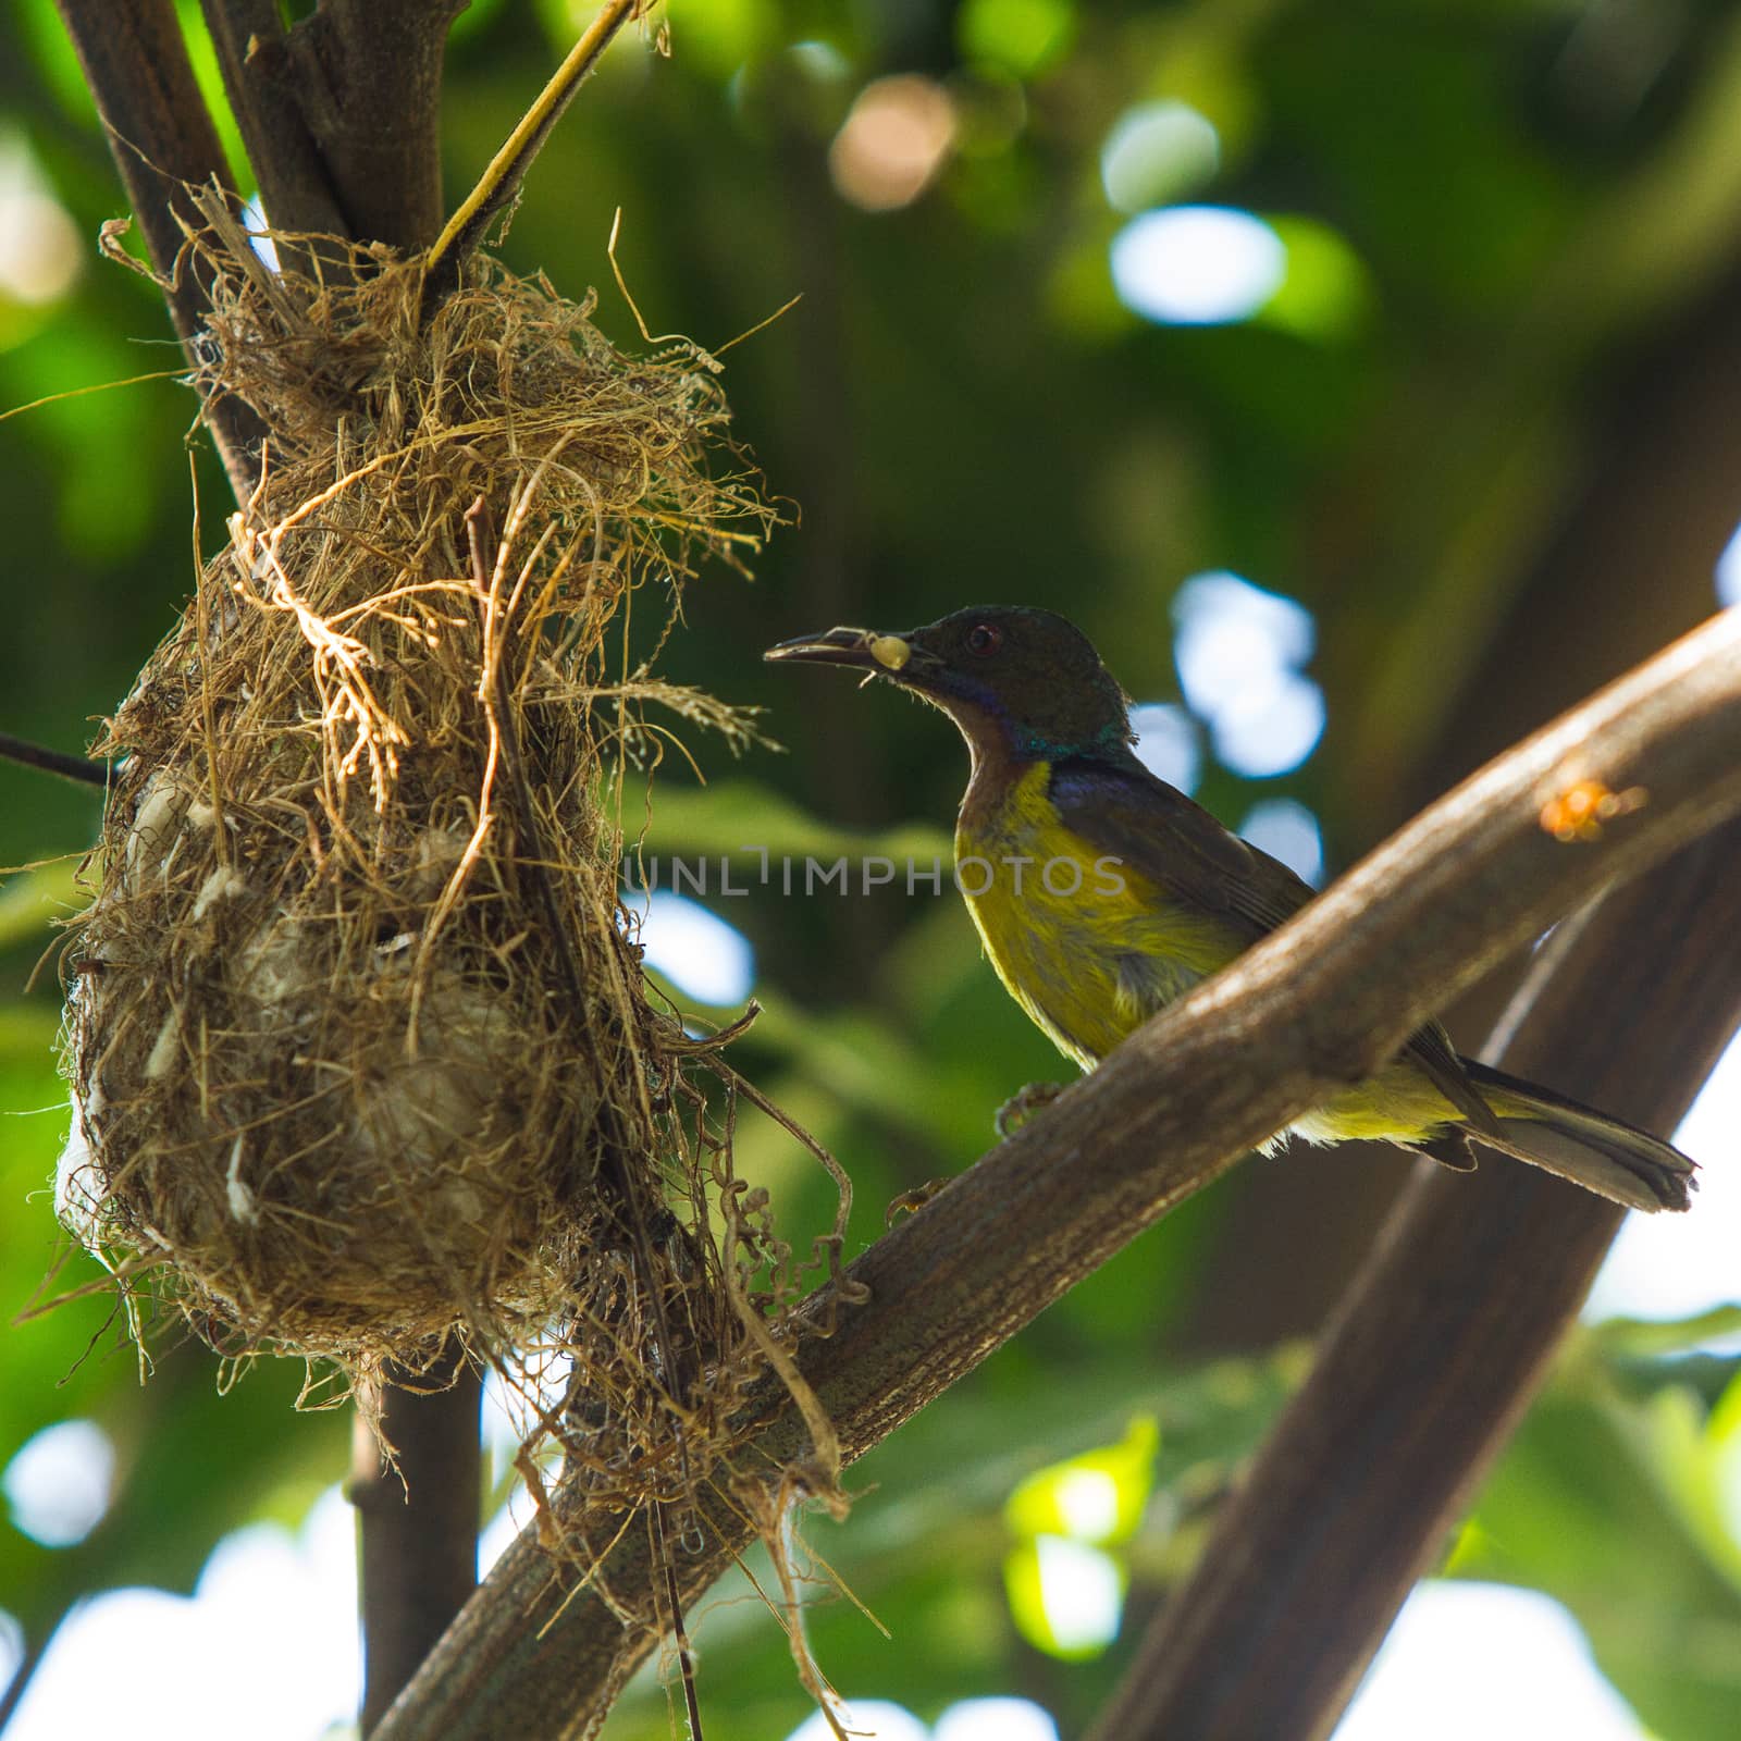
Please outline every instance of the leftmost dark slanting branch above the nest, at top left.
[[[197, 221], [186, 186], [230, 185], [223, 148], [193, 82], [171, 0], [56, 0], [66, 35], [96, 97], [115, 167], [145, 235], [151, 265], [169, 279], [181, 254], [179, 219]], [[190, 360], [205, 320], [205, 287], [192, 270], [174, 277], [169, 317]], [[261, 425], [237, 399], [205, 407], [230, 487], [245, 501], [254, 487]]]

